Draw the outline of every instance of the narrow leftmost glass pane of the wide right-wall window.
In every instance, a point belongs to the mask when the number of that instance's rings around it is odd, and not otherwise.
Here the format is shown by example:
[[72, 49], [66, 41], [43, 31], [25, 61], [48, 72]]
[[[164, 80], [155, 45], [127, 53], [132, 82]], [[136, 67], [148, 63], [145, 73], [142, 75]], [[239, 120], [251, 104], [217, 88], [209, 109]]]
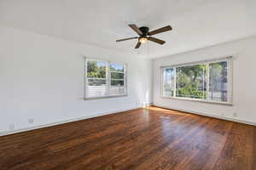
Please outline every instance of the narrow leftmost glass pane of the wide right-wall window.
[[163, 80], [164, 80], [164, 88], [163, 94], [164, 96], [173, 96], [174, 93], [174, 69], [173, 68], [165, 68], [163, 72]]

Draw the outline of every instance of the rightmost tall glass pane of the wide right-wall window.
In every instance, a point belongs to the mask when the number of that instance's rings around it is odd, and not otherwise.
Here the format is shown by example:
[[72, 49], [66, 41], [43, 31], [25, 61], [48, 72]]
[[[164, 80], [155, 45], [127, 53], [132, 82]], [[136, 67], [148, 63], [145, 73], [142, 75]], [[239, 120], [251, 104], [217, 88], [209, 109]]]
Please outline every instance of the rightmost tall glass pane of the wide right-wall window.
[[228, 101], [228, 62], [212, 63], [210, 66], [209, 99]]

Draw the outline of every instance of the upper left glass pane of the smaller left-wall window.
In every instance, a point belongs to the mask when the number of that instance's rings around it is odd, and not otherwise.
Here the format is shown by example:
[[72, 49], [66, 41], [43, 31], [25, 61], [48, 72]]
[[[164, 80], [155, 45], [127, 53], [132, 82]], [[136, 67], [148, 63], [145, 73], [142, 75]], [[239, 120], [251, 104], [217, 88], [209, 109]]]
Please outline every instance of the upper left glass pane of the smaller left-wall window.
[[87, 77], [106, 78], [107, 62], [105, 61], [88, 61]]

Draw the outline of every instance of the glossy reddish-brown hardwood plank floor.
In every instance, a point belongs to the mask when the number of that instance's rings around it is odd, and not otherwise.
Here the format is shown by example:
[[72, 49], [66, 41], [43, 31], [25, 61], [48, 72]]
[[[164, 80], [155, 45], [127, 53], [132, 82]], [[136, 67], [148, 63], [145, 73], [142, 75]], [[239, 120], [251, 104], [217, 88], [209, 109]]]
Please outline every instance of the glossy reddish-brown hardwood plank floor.
[[256, 127], [157, 107], [0, 137], [1, 170], [253, 170]]

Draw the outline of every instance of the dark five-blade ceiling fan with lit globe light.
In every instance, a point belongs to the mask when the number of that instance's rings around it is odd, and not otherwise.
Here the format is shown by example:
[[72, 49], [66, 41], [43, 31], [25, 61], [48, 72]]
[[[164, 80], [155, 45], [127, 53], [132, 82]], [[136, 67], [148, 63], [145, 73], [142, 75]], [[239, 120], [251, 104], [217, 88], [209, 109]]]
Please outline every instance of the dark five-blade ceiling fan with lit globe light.
[[172, 30], [172, 26], [165, 26], [165, 27], [162, 27], [160, 29], [156, 29], [154, 31], [149, 31], [149, 28], [147, 26], [142, 26], [140, 28], [138, 28], [135, 24], [131, 24], [129, 26], [131, 27], [131, 29], [133, 31], [137, 32], [139, 37], [128, 37], [128, 38], [125, 38], [125, 39], [117, 40], [116, 42], [122, 42], [122, 41], [126, 41], [126, 40], [131, 40], [131, 39], [138, 39], [138, 42], [137, 42], [137, 45], [136, 45], [135, 48], [139, 48], [142, 43], [145, 43], [148, 40], [152, 41], [152, 42], [159, 43], [159, 44], [162, 45], [162, 44], [165, 43], [165, 41], [160, 40], [160, 39], [155, 38], [155, 37], [150, 37], [150, 36], [153, 36], [155, 34], [159, 34], [161, 32], [171, 31]]

